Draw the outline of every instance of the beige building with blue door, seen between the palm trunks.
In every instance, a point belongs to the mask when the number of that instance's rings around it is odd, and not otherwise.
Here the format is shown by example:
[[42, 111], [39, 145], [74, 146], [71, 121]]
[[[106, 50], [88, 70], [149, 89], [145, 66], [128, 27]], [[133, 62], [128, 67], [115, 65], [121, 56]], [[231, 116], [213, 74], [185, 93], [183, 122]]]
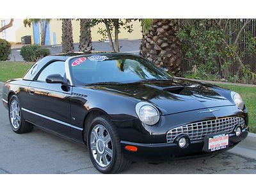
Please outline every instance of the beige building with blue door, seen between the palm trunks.
[[[10, 19], [0, 19], [1, 26], [4, 24], [8, 24]], [[141, 24], [138, 20], [131, 22], [133, 26], [132, 33], [127, 33], [125, 29], [121, 29], [119, 38], [120, 39], [128, 39], [128, 40], [136, 40], [141, 39]], [[72, 20], [73, 27], [73, 38], [74, 43], [79, 42], [79, 20]], [[102, 36], [97, 33], [99, 28], [105, 29], [104, 24], [99, 24], [98, 26], [93, 27], [92, 30], [92, 40], [98, 41], [102, 38]], [[23, 25], [23, 19], [14, 19], [13, 26], [4, 30], [0, 33], [0, 38], [4, 38], [10, 42], [21, 42], [21, 37], [29, 35], [31, 36], [31, 44], [39, 44], [40, 43], [40, 26], [37, 24], [33, 24], [31, 28], [28, 26], [25, 28]], [[61, 20], [52, 19], [50, 21], [49, 27], [47, 28], [47, 41], [48, 45], [56, 45], [61, 44]]]

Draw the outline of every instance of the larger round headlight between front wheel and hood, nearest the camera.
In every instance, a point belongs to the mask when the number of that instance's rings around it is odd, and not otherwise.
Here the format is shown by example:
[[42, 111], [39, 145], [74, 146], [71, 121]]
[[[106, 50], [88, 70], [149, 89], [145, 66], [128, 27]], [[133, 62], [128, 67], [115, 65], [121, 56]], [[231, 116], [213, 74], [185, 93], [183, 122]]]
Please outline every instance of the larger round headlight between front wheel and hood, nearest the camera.
[[138, 117], [144, 124], [154, 125], [159, 121], [159, 111], [152, 104], [148, 102], [138, 102], [135, 109]]

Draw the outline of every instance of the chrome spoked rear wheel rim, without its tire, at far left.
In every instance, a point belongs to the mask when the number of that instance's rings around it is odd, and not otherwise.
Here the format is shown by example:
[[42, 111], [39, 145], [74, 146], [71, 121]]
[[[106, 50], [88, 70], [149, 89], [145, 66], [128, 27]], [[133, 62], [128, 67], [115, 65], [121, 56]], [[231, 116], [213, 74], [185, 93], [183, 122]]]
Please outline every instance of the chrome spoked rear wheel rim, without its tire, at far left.
[[10, 120], [13, 128], [16, 130], [20, 125], [20, 106], [17, 100], [12, 100], [10, 105]]

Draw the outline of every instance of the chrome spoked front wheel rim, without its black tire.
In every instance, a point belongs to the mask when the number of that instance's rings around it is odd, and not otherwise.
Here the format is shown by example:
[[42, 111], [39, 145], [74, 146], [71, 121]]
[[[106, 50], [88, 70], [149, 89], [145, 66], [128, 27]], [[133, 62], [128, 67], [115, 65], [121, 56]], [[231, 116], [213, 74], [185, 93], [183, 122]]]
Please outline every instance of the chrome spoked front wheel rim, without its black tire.
[[101, 167], [108, 166], [113, 157], [111, 136], [103, 125], [95, 125], [90, 135], [93, 158]]

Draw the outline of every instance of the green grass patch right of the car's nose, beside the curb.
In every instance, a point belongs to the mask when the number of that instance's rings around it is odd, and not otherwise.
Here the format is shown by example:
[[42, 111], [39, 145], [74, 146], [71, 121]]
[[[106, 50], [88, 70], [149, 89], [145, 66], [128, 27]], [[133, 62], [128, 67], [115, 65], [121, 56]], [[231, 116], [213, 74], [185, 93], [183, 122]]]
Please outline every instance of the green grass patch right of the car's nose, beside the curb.
[[229, 84], [217, 84], [217, 85], [223, 88], [232, 90], [234, 92], [237, 92], [239, 93], [239, 95], [241, 95], [249, 113], [250, 132], [256, 133], [256, 87], [238, 86], [238, 85], [229, 85]]

